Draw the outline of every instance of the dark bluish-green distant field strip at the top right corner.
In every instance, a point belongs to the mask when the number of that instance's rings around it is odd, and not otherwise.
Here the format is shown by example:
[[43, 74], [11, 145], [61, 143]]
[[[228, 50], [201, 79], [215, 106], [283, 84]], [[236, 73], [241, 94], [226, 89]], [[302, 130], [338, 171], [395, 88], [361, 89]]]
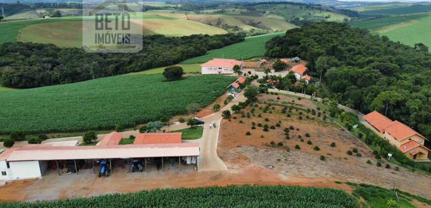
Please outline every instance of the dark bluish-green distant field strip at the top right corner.
[[401, 15], [414, 14], [431, 11], [431, 5], [407, 5], [401, 7], [381, 8], [374, 10], [362, 11], [364, 14], [383, 14], [383, 15]]

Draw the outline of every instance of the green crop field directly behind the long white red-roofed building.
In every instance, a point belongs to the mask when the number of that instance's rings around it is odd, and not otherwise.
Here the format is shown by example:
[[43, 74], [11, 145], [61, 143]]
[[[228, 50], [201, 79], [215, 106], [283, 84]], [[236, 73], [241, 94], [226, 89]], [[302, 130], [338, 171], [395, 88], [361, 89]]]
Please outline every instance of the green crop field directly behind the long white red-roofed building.
[[182, 64], [204, 63], [213, 58], [233, 58], [245, 60], [260, 57], [265, 54], [265, 43], [276, 36], [282, 36], [285, 32], [270, 33], [245, 38], [241, 43], [232, 44], [221, 49], [208, 51], [207, 54], [182, 61]]

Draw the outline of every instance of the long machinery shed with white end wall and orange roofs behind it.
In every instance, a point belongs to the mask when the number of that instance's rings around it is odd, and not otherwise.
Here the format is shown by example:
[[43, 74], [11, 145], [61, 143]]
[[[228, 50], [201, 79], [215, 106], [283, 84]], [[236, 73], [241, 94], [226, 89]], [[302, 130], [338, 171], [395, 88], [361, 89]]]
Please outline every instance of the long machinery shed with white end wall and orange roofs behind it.
[[111, 159], [127, 159], [128, 163], [129, 159], [139, 158], [144, 159], [146, 167], [149, 158], [161, 159], [163, 165], [163, 158], [176, 157], [181, 168], [182, 157], [197, 158], [200, 152], [199, 143], [181, 143], [181, 133], [138, 134], [137, 138], [145, 138], [146, 142], [141, 140], [133, 145], [118, 145], [121, 140], [118, 135], [117, 132], [106, 135], [97, 146], [75, 146], [75, 141], [74, 145], [45, 143], [7, 149], [0, 154], [0, 180], [39, 178], [50, 164], [60, 174], [58, 161], [68, 161], [74, 170], [78, 170], [77, 173], [80, 169], [77, 161], [92, 161], [94, 168], [94, 161], [100, 159], [106, 159], [109, 163]]

